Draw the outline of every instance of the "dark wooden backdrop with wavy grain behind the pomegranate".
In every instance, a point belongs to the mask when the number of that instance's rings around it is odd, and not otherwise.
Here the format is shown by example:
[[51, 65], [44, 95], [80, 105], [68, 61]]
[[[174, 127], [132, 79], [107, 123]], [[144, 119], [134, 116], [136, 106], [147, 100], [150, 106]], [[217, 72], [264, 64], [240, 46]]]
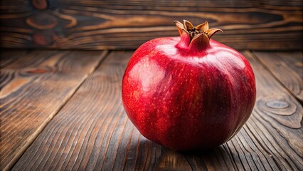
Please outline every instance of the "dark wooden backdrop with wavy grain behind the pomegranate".
[[302, 0], [1, 0], [2, 48], [132, 49], [208, 21], [213, 38], [252, 50], [302, 49]]

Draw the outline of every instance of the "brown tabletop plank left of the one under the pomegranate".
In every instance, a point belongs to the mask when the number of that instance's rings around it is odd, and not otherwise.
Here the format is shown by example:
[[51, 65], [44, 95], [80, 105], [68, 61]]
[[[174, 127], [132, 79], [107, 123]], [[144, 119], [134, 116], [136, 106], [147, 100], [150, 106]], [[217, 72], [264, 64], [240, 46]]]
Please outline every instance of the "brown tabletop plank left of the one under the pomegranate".
[[105, 53], [1, 52], [0, 170], [14, 165]]

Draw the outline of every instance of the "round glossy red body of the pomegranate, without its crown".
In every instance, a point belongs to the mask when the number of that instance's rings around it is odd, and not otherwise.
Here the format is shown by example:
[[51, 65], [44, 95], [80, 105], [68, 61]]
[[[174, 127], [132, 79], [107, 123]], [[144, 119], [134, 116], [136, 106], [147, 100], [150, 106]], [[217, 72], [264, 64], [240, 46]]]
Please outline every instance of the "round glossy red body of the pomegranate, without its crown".
[[238, 51], [210, 40], [201, 51], [176, 38], [140, 46], [122, 80], [124, 109], [145, 138], [173, 150], [217, 147], [230, 140], [255, 105], [255, 76]]

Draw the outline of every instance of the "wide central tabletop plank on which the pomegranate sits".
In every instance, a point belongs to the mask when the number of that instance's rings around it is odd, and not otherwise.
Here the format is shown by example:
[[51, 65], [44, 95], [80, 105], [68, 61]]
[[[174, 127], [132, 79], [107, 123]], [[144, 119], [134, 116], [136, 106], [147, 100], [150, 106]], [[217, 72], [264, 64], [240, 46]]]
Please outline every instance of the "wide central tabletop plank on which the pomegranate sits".
[[[302, 106], [245, 52], [257, 78], [252, 116], [232, 140], [176, 152], [128, 120], [121, 81], [132, 51], [114, 51], [55, 115], [13, 170], [302, 170]], [[275, 104], [278, 105], [275, 105]]]

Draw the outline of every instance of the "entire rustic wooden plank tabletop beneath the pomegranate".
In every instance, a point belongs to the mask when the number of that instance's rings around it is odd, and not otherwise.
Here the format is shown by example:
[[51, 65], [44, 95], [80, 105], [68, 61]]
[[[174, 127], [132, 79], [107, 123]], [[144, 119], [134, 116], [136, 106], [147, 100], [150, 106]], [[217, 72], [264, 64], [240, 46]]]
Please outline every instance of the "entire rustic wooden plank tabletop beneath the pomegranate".
[[2, 51], [0, 170], [303, 170], [302, 52], [243, 51], [257, 79], [242, 130], [176, 152], [128, 120], [121, 80], [133, 51]]

